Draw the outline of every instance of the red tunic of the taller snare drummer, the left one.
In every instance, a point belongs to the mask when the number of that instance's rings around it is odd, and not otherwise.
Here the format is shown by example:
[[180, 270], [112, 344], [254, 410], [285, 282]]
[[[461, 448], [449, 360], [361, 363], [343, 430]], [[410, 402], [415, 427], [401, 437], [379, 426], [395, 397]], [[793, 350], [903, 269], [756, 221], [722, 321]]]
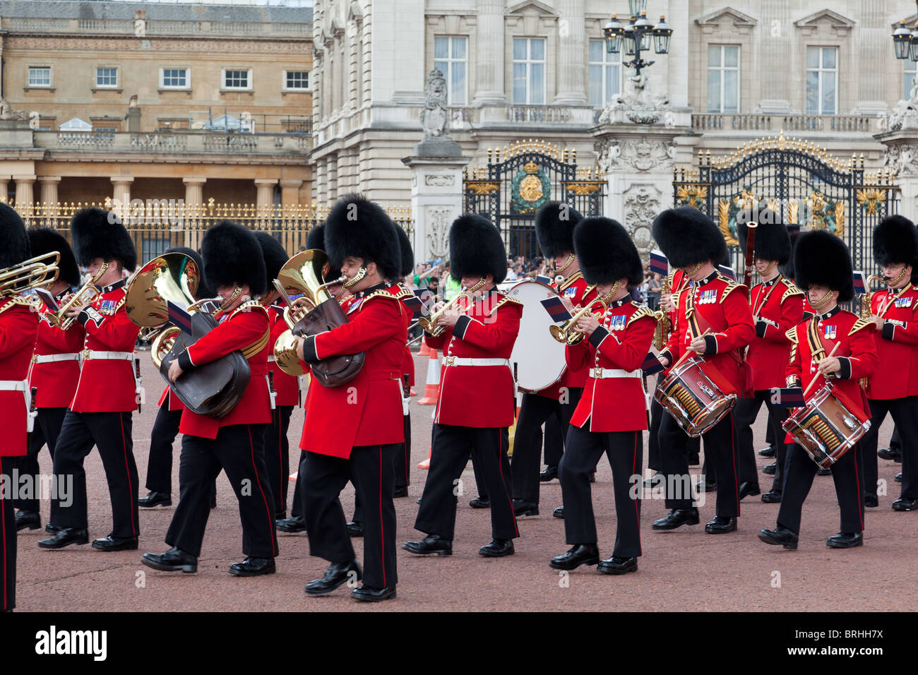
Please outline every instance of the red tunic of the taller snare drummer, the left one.
[[[692, 314], [689, 314], [689, 296], [694, 302]], [[669, 363], [675, 364], [692, 339], [708, 331], [704, 360], [720, 371], [732, 388], [723, 393], [751, 396], [752, 376], [740, 355], [742, 348], [756, 336], [746, 287], [714, 272], [682, 290], [677, 307], [676, 326], [664, 349]]]

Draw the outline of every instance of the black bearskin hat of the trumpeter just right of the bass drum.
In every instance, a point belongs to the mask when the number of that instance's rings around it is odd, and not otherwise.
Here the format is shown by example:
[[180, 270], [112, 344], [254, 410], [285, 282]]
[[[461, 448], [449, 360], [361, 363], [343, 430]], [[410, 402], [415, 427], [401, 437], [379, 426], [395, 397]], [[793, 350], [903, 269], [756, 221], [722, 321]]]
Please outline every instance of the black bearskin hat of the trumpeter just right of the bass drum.
[[637, 247], [621, 223], [610, 218], [581, 219], [574, 228], [574, 251], [588, 284], [611, 284], [628, 279], [632, 287], [644, 281]]

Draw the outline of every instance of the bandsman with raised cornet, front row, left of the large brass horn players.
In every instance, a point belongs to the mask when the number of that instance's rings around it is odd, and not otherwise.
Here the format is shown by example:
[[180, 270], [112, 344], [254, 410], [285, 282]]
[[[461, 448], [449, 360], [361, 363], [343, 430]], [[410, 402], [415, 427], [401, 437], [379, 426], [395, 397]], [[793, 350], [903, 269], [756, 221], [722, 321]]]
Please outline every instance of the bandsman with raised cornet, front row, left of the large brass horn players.
[[62, 495], [51, 501], [50, 524], [56, 534], [41, 539], [41, 548], [86, 544], [86, 473], [84, 459], [95, 445], [106, 471], [111, 496], [112, 531], [96, 539], [102, 551], [137, 548], [138, 477], [131, 438], [132, 413], [140, 400], [134, 374], [134, 344], [140, 328], [125, 309], [125, 273], [137, 266], [137, 252], [128, 231], [113, 211], [84, 208], [70, 224], [77, 262], [88, 267], [99, 294], [74, 306], [67, 316], [83, 324], [83, 367], [70, 410], [64, 416], [54, 449], [54, 479], [58, 485], [73, 477], [73, 500]]

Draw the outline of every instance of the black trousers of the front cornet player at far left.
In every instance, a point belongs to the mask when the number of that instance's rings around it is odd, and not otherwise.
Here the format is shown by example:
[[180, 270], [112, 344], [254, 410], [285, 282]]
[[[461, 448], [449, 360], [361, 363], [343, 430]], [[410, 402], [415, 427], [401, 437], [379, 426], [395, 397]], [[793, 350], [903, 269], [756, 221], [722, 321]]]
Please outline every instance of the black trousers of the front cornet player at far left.
[[57, 527], [88, 526], [86, 472], [83, 461], [93, 445], [98, 447], [106, 471], [112, 504], [114, 537], [140, 534], [137, 518], [137, 465], [131, 440], [130, 412], [73, 412], [64, 416], [54, 448], [57, 495], [51, 501], [50, 523]]

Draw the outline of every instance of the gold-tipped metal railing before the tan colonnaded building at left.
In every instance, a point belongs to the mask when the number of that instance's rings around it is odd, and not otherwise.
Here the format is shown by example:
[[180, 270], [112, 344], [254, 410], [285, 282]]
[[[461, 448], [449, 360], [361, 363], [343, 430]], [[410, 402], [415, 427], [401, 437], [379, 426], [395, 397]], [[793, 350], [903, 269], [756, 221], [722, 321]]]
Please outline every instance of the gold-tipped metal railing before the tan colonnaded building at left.
[[[164, 203], [163, 203], [164, 202]], [[27, 228], [50, 227], [71, 239], [70, 221], [73, 214], [86, 207], [112, 208], [110, 197], [93, 202], [63, 202], [56, 204], [22, 204], [16, 208]], [[309, 231], [325, 222], [329, 206], [316, 201], [309, 204], [259, 207], [254, 204], [217, 204], [211, 198], [207, 204], [185, 205], [183, 200], [167, 201], [143, 207], [123, 209], [122, 222], [137, 248], [140, 263], [146, 263], [172, 246], [199, 249], [204, 233], [220, 220], [233, 220], [250, 230], [266, 231], [290, 255], [305, 250]], [[414, 220], [408, 207], [388, 207], [386, 213], [409, 235], [414, 232]]]

